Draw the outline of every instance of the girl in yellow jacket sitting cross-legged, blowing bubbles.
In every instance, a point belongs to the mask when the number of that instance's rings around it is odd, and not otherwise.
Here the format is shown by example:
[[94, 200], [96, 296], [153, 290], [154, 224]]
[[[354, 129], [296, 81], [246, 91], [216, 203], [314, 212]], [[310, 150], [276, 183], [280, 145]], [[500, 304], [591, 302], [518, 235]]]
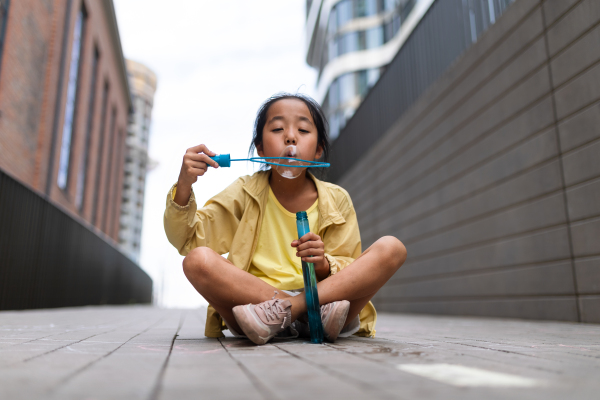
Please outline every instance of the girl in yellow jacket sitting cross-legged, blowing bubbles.
[[[290, 145], [303, 159], [327, 159], [327, 121], [313, 99], [279, 94], [259, 109], [250, 150], [279, 157]], [[186, 256], [186, 277], [210, 304], [205, 335], [229, 329], [256, 344], [307, 336], [302, 260], [315, 266], [325, 338], [373, 337], [370, 299], [404, 263], [404, 245], [386, 236], [361, 254], [350, 196], [306, 169], [294, 179], [275, 168], [241, 177], [198, 210], [192, 184], [219, 167], [214, 155], [205, 145], [187, 150], [164, 216], [169, 241]], [[311, 228], [300, 239], [298, 211], [307, 211]]]

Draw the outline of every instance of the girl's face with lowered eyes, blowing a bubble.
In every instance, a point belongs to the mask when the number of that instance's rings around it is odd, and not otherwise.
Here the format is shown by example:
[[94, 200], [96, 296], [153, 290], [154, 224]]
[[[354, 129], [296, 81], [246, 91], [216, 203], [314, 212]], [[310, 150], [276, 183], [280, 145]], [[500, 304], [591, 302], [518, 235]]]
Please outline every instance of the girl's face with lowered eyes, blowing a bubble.
[[267, 111], [262, 143], [256, 146], [256, 152], [260, 157], [280, 157], [287, 146], [294, 145], [300, 158], [314, 161], [323, 153], [318, 139], [317, 127], [306, 104], [298, 99], [281, 99]]

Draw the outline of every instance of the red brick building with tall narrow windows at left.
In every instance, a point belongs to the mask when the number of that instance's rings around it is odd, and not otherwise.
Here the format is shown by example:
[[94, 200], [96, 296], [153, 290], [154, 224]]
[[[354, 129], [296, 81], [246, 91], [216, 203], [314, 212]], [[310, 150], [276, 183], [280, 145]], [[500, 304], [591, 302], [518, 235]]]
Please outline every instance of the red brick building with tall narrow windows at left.
[[114, 241], [131, 107], [111, 0], [0, 0], [0, 170]]

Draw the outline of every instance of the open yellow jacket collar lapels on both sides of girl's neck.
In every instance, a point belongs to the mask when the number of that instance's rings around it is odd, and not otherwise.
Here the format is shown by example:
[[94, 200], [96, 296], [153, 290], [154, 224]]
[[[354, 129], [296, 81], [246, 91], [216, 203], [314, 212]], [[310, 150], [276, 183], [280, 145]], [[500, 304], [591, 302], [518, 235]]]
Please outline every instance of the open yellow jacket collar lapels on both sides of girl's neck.
[[[258, 171], [250, 176], [243, 185], [244, 190], [259, 204], [261, 214], [268, 198], [270, 176], [271, 171]], [[319, 196], [319, 231], [331, 224], [341, 225], [345, 223], [346, 220], [338, 209], [328, 186], [310, 172], [308, 176], [315, 182]]]

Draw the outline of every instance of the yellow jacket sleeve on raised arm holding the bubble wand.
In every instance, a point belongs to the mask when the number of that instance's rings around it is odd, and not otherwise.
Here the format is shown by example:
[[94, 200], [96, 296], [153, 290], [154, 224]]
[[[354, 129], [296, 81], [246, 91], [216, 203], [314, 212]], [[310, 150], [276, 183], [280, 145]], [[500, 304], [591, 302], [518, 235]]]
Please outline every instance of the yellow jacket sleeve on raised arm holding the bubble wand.
[[200, 246], [219, 254], [229, 252], [244, 213], [243, 183], [242, 179], [238, 179], [199, 210], [193, 191], [188, 204], [180, 206], [173, 200], [177, 184], [171, 187], [167, 195], [164, 226], [169, 242], [179, 254], [185, 256]]

